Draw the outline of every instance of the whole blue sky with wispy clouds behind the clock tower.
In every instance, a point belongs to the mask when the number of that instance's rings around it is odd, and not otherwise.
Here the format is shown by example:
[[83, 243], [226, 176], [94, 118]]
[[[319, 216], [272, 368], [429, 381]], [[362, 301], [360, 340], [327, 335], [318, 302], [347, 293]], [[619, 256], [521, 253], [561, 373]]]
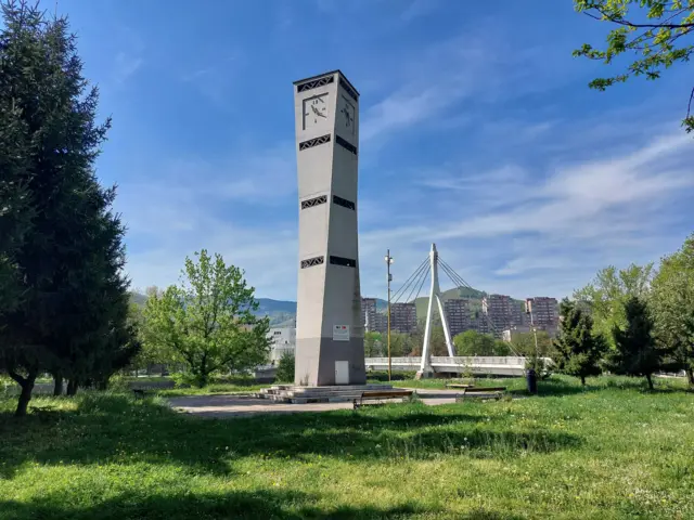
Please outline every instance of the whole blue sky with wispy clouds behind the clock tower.
[[476, 288], [558, 298], [607, 264], [657, 260], [692, 231], [694, 142], [679, 126], [691, 76], [588, 89], [611, 69], [571, 50], [608, 27], [570, 0], [57, 10], [113, 116], [98, 174], [119, 185], [134, 287], [175, 283], [205, 247], [258, 296], [295, 299], [292, 81], [335, 68], [361, 93], [363, 295], [385, 295], [387, 247], [396, 287], [436, 242]]

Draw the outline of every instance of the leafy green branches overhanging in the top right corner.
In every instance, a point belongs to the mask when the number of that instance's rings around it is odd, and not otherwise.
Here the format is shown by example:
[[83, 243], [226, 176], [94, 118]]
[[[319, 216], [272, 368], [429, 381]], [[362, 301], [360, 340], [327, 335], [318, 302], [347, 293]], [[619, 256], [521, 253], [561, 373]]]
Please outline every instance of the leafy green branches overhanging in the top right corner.
[[[678, 62], [689, 62], [694, 52], [694, 0], [574, 0], [576, 10], [612, 25], [604, 50], [584, 43], [574, 51], [575, 56], [586, 56], [612, 64], [621, 54], [638, 57], [626, 70], [612, 77], [593, 79], [589, 86], [605, 90], [631, 76], [657, 79], [666, 68]], [[682, 126], [694, 130], [691, 90], [686, 116]]]

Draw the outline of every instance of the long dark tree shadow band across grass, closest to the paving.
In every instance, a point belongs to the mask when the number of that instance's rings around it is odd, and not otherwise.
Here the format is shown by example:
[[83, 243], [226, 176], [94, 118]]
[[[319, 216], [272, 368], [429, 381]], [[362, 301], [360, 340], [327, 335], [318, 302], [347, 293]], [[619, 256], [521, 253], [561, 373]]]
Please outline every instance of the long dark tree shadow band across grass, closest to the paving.
[[203, 420], [117, 394], [83, 394], [78, 403], [76, 411], [43, 410], [18, 420], [0, 415], [0, 476], [12, 478], [26, 461], [180, 464], [229, 474], [236, 459], [253, 456], [425, 459], [465, 453], [492, 458], [580, 443], [575, 435], [543, 429], [504, 430], [493, 417], [478, 428], [479, 415], [424, 405]]

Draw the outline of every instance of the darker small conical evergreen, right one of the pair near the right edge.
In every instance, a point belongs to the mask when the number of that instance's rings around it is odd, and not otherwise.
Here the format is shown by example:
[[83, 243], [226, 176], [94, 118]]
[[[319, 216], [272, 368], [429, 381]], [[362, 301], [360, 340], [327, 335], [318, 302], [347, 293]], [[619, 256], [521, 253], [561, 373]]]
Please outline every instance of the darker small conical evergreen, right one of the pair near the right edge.
[[645, 300], [629, 298], [625, 303], [625, 317], [627, 325], [613, 329], [616, 348], [608, 363], [617, 374], [645, 377], [653, 390], [653, 374], [660, 369], [666, 352], [655, 343], [653, 320]]

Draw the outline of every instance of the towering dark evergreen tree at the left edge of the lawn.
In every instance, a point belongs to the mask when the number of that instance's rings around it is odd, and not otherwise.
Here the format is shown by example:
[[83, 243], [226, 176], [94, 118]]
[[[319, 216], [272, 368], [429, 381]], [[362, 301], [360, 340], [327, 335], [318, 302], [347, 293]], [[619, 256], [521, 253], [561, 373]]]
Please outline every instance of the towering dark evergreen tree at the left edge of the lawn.
[[0, 165], [13, 165], [14, 176], [0, 208], [20, 200], [30, 218], [11, 255], [0, 245], [2, 261], [21, 273], [10, 274], [21, 298], [2, 314], [0, 366], [22, 387], [16, 414], [24, 415], [40, 372], [75, 386], [130, 342], [128, 283], [125, 230], [110, 210], [115, 190], [101, 187], [93, 171], [111, 121], [95, 122], [99, 93], [81, 76], [76, 39], [65, 18], [47, 21], [24, 0], [0, 5], [0, 122], [11, 123]]

